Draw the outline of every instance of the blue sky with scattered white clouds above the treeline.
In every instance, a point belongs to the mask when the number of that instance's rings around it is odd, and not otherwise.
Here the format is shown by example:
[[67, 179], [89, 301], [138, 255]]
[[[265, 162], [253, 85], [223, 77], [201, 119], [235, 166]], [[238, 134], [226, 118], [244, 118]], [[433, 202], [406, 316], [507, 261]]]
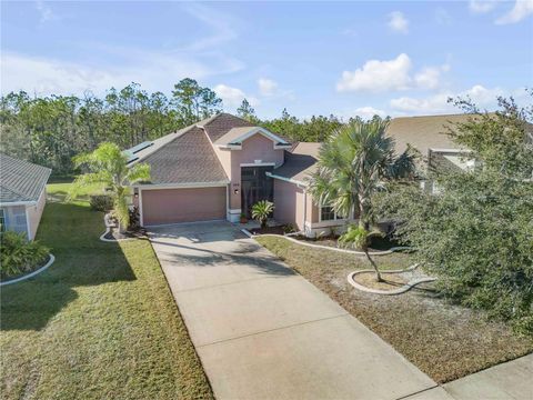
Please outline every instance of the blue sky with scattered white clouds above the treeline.
[[494, 108], [533, 83], [533, 0], [1, 3], [2, 93], [170, 94], [185, 77], [263, 118]]

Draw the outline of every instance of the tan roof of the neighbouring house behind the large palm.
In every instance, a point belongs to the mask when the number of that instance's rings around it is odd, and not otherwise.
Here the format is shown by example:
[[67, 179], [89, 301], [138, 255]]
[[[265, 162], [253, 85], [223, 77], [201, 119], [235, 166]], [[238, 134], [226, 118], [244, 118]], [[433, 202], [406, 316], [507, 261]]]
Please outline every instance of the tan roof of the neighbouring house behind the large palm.
[[428, 156], [429, 149], [461, 150], [446, 134], [447, 128], [466, 122], [470, 118], [471, 114], [400, 117], [391, 120], [386, 133], [394, 139], [399, 153], [408, 148], [408, 143], [422, 156]]

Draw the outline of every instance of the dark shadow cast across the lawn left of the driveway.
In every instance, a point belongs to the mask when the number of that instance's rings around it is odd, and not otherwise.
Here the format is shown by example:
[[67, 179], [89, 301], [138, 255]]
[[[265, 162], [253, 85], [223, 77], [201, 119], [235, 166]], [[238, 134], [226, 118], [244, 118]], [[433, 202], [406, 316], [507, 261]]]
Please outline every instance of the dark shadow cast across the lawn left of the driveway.
[[56, 262], [36, 278], [2, 288], [0, 330], [41, 330], [78, 299], [76, 288], [135, 280], [120, 246], [99, 240], [103, 230], [102, 214], [87, 206], [47, 203], [38, 240]]

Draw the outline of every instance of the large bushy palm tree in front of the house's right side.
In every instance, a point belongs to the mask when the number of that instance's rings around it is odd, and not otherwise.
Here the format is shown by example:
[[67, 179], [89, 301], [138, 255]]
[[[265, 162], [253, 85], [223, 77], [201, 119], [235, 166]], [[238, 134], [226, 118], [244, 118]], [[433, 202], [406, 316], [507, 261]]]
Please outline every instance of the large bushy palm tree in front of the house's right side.
[[359, 218], [369, 230], [374, 220], [372, 196], [392, 179], [414, 174], [415, 153], [408, 148], [395, 154], [394, 140], [385, 136], [389, 121], [355, 120], [335, 131], [320, 149], [310, 191], [335, 212]]

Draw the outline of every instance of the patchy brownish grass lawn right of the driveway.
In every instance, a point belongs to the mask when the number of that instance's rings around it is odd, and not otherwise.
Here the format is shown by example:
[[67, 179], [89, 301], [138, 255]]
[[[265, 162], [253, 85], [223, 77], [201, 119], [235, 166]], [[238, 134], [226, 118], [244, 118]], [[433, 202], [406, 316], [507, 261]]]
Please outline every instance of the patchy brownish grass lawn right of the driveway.
[[[431, 284], [401, 296], [353, 289], [348, 273], [370, 268], [364, 257], [312, 249], [281, 238], [258, 241], [440, 383], [533, 351], [533, 339], [513, 334], [510, 327], [487, 321], [481, 312], [447, 303]], [[382, 269], [411, 263], [408, 254], [400, 253], [374, 260]]]

